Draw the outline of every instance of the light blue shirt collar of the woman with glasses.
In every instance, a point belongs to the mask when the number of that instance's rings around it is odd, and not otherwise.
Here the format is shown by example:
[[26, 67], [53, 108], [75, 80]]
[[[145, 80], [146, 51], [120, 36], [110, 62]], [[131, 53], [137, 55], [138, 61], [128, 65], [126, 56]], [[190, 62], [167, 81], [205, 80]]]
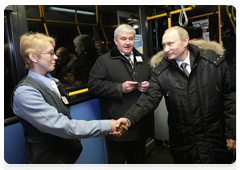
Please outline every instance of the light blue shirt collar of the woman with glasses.
[[54, 80], [54, 78], [49, 73], [47, 73], [46, 77], [44, 77], [40, 74], [33, 72], [32, 70], [29, 70], [28, 76], [34, 78], [38, 82], [42, 83], [43, 85], [51, 89], [51, 81]]

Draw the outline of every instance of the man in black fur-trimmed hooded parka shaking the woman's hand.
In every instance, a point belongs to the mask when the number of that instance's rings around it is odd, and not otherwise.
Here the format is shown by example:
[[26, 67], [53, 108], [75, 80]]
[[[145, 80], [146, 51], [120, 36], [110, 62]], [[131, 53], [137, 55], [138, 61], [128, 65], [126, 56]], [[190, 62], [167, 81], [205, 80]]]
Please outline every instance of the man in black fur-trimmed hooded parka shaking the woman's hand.
[[238, 94], [224, 49], [189, 42], [178, 26], [165, 31], [162, 43], [164, 51], [151, 59], [149, 87], [119, 123], [134, 126], [164, 96], [175, 170], [226, 170], [238, 148]]

